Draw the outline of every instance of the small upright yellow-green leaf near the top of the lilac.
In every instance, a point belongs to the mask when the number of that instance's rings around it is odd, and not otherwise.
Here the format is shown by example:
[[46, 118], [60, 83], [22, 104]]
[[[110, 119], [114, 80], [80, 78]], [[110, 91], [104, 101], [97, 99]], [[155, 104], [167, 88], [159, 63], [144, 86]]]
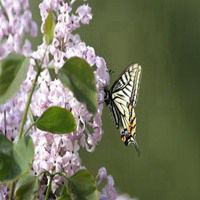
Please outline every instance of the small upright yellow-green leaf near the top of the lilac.
[[55, 20], [53, 11], [49, 11], [44, 23], [44, 37], [47, 44], [50, 44], [54, 37]]

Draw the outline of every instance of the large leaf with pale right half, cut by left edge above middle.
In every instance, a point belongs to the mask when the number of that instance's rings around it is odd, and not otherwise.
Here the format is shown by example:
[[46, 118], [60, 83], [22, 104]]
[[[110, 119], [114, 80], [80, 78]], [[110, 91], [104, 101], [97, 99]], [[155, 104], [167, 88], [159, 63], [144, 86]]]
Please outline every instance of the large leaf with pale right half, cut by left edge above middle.
[[0, 61], [0, 104], [13, 97], [28, 71], [29, 59], [10, 54]]

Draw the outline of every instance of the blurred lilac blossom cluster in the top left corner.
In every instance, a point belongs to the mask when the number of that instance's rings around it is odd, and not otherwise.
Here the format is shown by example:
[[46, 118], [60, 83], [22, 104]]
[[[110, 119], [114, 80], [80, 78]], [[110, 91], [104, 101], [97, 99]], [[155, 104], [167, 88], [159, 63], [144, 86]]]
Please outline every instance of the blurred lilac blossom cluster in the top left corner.
[[37, 35], [37, 24], [32, 19], [28, 0], [2, 0], [0, 4], [0, 58], [15, 51], [31, 53], [31, 43], [25, 34]]

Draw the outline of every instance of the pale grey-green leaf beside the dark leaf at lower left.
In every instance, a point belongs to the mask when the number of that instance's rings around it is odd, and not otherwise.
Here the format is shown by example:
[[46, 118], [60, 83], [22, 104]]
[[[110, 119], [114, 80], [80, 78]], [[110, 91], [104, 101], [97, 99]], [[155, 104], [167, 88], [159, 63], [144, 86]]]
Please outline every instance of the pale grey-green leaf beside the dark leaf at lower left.
[[21, 173], [28, 172], [34, 158], [34, 145], [31, 137], [25, 136], [19, 139], [18, 143], [13, 145], [13, 154], [20, 166]]

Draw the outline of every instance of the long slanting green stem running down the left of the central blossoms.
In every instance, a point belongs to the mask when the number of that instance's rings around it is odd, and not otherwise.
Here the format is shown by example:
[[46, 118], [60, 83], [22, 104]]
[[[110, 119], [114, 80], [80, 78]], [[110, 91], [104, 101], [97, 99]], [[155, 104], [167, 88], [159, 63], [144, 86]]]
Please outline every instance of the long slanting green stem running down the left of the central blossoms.
[[29, 110], [29, 107], [30, 107], [31, 99], [32, 99], [33, 92], [35, 90], [35, 86], [36, 86], [38, 77], [40, 75], [40, 72], [41, 72], [41, 69], [40, 69], [40, 67], [38, 67], [37, 74], [35, 76], [35, 80], [33, 81], [33, 86], [32, 86], [32, 89], [31, 89], [31, 91], [29, 93], [28, 100], [26, 102], [25, 111], [24, 111], [24, 114], [23, 114], [23, 117], [22, 117], [22, 121], [21, 121], [21, 124], [20, 124], [19, 139], [22, 137], [22, 134], [23, 134], [23, 129], [24, 129], [24, 125], [26, 123], [27, 114], [28, 114], [28, 110]]

